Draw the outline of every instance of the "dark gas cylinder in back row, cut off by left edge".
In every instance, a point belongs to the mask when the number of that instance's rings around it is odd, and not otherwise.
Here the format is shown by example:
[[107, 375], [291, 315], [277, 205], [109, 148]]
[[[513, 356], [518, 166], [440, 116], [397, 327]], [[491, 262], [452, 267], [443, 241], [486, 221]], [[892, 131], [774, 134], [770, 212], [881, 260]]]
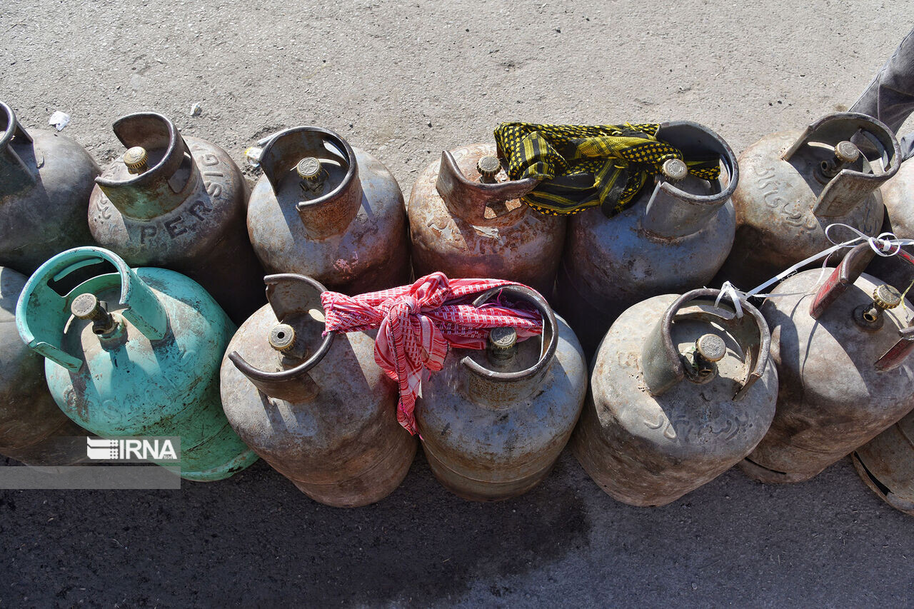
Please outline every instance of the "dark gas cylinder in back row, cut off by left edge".
[[86, 207], [98, 175], [80, 144], [29, 134], [0, 102], [0, 264], [28, 274], [60, 251], [91, 245]]

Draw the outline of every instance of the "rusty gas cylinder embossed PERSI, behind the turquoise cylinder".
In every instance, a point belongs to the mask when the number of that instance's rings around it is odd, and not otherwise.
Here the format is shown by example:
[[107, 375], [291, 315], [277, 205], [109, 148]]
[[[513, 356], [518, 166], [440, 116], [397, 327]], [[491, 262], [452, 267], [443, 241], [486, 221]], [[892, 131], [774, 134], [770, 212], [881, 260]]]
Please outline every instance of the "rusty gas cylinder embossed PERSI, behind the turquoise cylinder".
[[185, 274], [233, 320], [246, 319], [263, 304], [263, 270], [248, 240], [238, 166], [162, 114], [128, 114], [113, 130], [127, 150], [95, 180], [92, 236], [132, 266]]

